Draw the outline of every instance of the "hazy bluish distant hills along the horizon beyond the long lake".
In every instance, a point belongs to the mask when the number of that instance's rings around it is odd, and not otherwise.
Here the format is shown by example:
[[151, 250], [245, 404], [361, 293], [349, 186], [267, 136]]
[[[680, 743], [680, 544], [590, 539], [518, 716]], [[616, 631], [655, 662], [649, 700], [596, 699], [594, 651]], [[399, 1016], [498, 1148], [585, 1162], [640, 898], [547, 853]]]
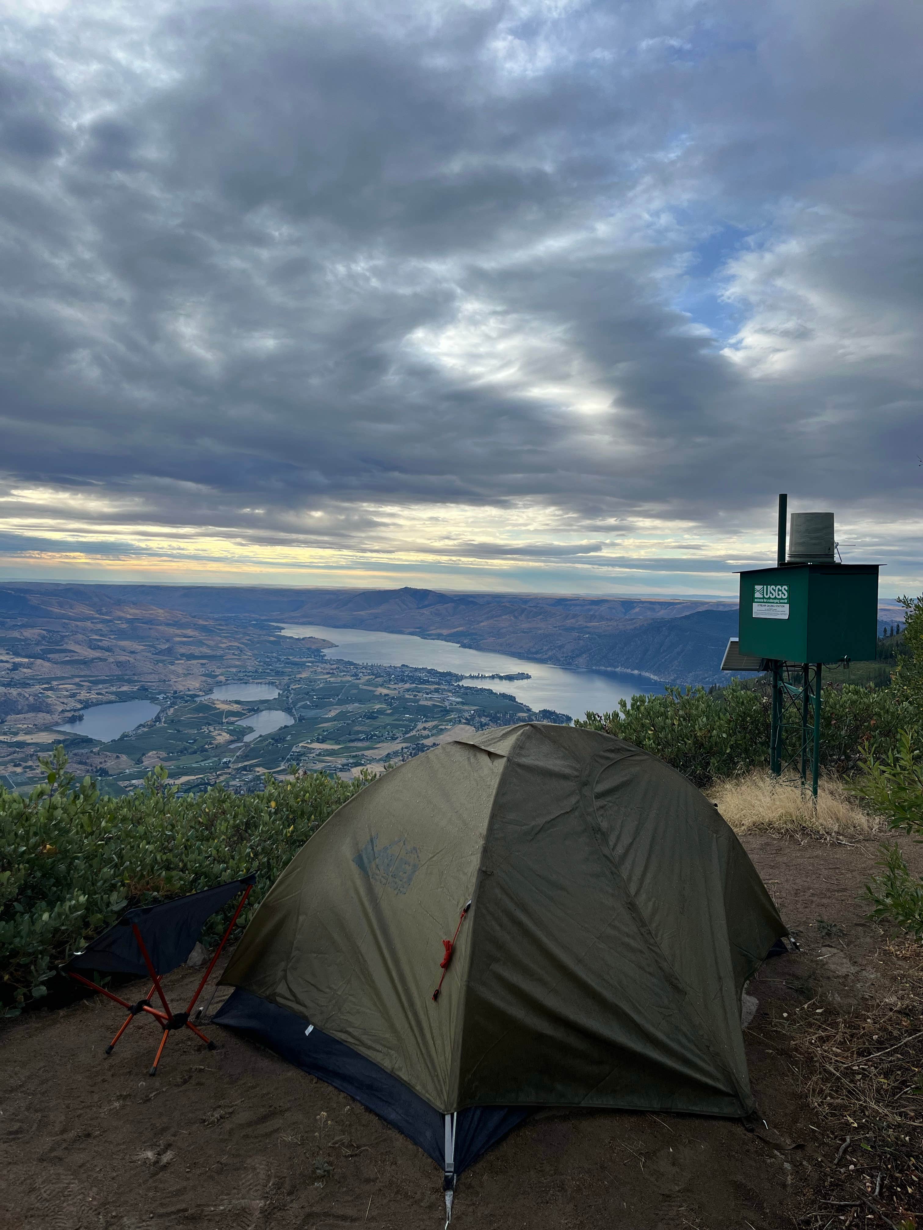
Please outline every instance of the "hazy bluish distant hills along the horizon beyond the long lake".
[[737, 633], [736, 603], [683, 599], [447, 594], [407, 585], [276, 589], [11, 582], [0, 589], [0, 617], [21, 619], [30, 611], [130, 617], [133, 609], [140, 617], [151, 608], [199, 617], [412, 633], [551, 665], [633, 672], [674, 684], [726, 683], [721, 658], [729, 637]]

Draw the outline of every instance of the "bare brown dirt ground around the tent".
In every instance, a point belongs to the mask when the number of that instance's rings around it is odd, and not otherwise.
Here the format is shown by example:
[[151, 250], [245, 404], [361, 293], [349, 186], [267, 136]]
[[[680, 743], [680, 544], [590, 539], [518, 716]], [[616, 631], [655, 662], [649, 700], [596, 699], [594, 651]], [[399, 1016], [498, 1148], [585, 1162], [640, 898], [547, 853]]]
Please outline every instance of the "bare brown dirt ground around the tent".
[[[759, 1009], [746, 1033], [763, 1114], [796, 1148], [768, 1144], [737, 1122], [537, 1116], [465, 1172], [453, 1226], [917, 1224], [909, 1214], [923, 1208], [914, 1171], [923, 1097], [892, 1098], [901, 1135], [885, 1145], [860, 1118], [868, 1107], [859, 1092], [837, 1084], [859, 1081], [849, 1065], [837, 1068], [849, 1030], [866, 1031], [873, 1057], [897, 1039], [890, 1054], [907, 1071], [923, 1063], [912, 1038], [923, 1028], [913, 999], [919, 950], [889, 941], [860, 898], [877, 844], [745, 844], [802, 946], [751, 984]], [[919, 847], [907, 845], [919, 863]], [[197, 978], [171, 975], [171, 1001], [188, 996]], [[0, 1230], [441, 1230], [437, 1167], [350, 1097], [218, 1027], [209, 1031], [217, 1052], [188, 1031], [170, 1038], [151, 1080], [153, 1023], [134, 1022], [103, 1058], [119, 1015], [91, 998], [26, 1014], [0, 1032]], [[886, 1025], [871, 1033], [879, 1020]], [[870, 1069], [869, 1080], [885, 1077]]]

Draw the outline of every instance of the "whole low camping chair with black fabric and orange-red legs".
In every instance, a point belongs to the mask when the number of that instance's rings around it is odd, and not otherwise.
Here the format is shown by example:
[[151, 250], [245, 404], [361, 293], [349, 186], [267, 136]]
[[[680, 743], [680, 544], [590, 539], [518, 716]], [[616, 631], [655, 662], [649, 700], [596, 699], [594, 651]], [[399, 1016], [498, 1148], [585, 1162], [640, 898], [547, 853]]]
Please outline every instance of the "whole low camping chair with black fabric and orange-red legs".
[[[226, 884], [219, 884], [218, 888], [207, 888], [202, 893], [177, 897], [171, 902], [162, 902], [159, 905], [142, 905], [138, 909], [126, 910], [118, 922], [114, 922], [107, 931], [103, 931], [101, 936], [97, 936], [82, 951], [75, 952], [70, 961], [60, 967], [60, 972], [66, 974], [68, 978], [73, 978], [76, 983], [82, 983], [90, 990], [98, 991], [101, 995], [114, 1000], [116, 1004], [121, 1004], [122, 1007], [128, 1010], [128, 1017], [122, 1028], [108, 1047], [106, 1047], [107, 1055], [112, 1054], [116, 1043], [139, 1012], [146, 1012], [149, 1016], [153, 1016], [164, 1031], [154, 1064], [148, 1074], [150, 1076], [156, 1076], [158, 1074], [158, 1064], [160, 1063], [160, 1057], [164, 1054], [164, 1047], [171, 1030], [192, 1030], [197, 1038], [208, 1043], [209, 1050], [215, 1049], [215, 1043], [210, 1042], [204, 1033], [197, 1030], [190, 1017], [196, 1006], [196, 1000], [202, 994], [255, 882], [255, 875], [244, 876], [242, 879], [233, 879]], [[238, 893], [242, 893], [244, 895], [238, 902], [234, 918], [228, 924], [228, 930], [222, 936], [222, 942], [209, 961], [202, 982], [196, 988], [196, 994], [190, 1000], [185, 1012], [174, 1012], [166, 1001], [160, 979], [186, 961], [196, 946], [196, 941], [202, 934], [206, 921], [233, 897], [236, 897]], [[151, 986], [144, 999], [138, 1000], [137, 1004], [128, 1004], [126, 1000], [119, 999], [118, 995], [113, 995], [105, 986], [100, 986], [98, 983], [92, 983], [89, 978], [76, 973], [79, 969], [107, 974], [135, 974], [140, 978], [148, 977], [151, 980]], [[158, 998], [162, 1004], [162, 1011], [151, 1005], [154, 991], [158, 993]]]

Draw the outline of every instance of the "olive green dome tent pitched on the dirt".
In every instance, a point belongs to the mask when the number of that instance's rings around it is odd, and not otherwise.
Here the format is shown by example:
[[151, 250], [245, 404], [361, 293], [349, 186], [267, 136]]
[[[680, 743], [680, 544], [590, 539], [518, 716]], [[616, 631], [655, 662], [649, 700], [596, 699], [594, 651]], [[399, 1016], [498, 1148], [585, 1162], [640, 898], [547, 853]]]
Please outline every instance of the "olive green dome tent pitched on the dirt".
[[754, 1111], [745, 983], [786, 934], [681, 774], [529, 723], [354, 796], [270, 891], [215, 1017], [353, 1093], [454, 1177], [529, 1109]]

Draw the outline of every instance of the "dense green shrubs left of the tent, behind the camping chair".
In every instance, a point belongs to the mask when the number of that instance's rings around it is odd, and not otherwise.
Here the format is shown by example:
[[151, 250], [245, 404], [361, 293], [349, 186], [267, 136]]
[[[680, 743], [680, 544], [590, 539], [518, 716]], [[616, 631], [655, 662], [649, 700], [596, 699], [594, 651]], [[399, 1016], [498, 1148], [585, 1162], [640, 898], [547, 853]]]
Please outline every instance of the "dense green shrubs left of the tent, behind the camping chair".
[[[244, 926], [293, 855], [367, 780], [267, 774], [262, 793], [218, 786], [180, 797], [159, 768], [135, 793], [106, 798], [90, 777], [76, 782], [66, 771], [63, 748], [41, 764], [47, 782], [28, 797], [0, 788], [0, 1015], [43, 996], [57, 966], [127, 905], [254, 871]], [[215, 915], [203, 938], [217, 938], [228, 916]]]

